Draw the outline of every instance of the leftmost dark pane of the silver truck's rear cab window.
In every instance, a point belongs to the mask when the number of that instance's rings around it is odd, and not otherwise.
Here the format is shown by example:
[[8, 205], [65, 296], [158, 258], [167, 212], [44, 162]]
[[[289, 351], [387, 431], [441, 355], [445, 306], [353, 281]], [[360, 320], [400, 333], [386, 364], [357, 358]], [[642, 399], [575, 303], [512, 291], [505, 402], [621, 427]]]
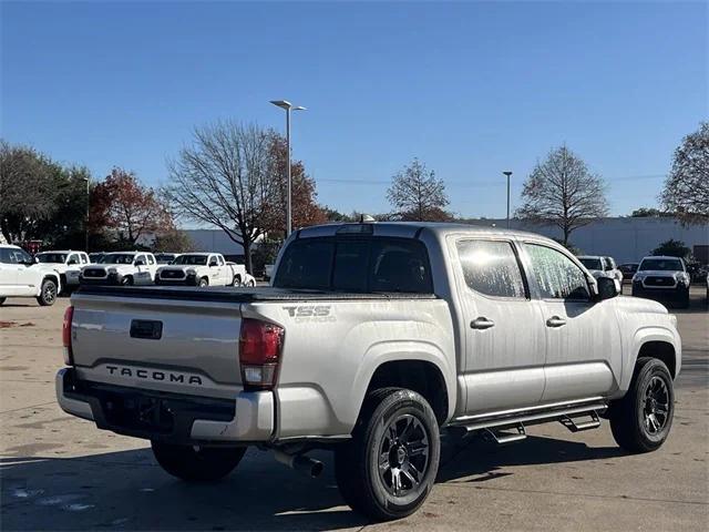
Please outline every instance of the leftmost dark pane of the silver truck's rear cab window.
[[274, 286], [278, 288], [328, 288], [335, 243], [304, 238], [288, 246], [278, 266]]

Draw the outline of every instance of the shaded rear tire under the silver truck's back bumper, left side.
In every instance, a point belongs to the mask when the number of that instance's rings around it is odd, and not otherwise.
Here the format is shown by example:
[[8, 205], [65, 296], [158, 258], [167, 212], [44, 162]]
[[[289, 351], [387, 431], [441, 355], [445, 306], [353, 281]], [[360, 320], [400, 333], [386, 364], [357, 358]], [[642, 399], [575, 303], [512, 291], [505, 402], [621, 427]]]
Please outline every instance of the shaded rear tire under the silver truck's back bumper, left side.
[[151, 446], [157, 463], [187, 482], [210, 482], [226, 477], [246, 452], [246, 447], [177, 446], [157, 440], [152, 440]]

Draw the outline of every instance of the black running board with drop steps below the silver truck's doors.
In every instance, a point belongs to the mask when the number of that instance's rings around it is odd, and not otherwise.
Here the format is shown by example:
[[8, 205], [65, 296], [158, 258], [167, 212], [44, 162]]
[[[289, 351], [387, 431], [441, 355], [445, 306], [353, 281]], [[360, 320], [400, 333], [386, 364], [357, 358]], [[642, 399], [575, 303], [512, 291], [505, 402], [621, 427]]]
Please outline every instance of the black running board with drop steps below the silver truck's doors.
[[[467, 420], [458, 420], [453, 421], [451, 426], [462, 427], [467, 432], [476, 431], [476, 430], [485, 430], [485, 429], [506, 429], [506, 428], [517, 428], [518, 434], [511, 434], [517, 440], [522, 440], [526, 438], [526, 432], [524, 432], [524, 437], [520, 437], [522, 433], [518, 429], [520, 426], [531, 426], [538, 423], [546, 423], [549, 421], [559, 421], [562, 422], [568, 430], [572, 432], [578, 432], [580, 430], [590, 430], [600, 426], [600, 420], [598, 419], [598, 413], [605, 411], [608, 408], [608, 405], [605, 402], [593, 402], [593, 403], [584, 403], [584, 405], [574, 405], [568, 406], [566, 408], [555, 408], [546, 411], [527, 411], [527, 412], [518, 412], [516, 416], [500, 416], [494, 417], [491, 415], [490, 417], [481, 417], [480, 419], [467, 419]], [[590, 421], [578, 423], [574, 421], [574, 418], [580, 418], [584, 416], [590, 417]], [[489, 430], [489, 432], [492, 432]], [[503, 436], [502, 438], [505, 438]], [[497, 439], [496, 439], [497, 440]], [[512, 441], [512, 440], [505, 440]]]

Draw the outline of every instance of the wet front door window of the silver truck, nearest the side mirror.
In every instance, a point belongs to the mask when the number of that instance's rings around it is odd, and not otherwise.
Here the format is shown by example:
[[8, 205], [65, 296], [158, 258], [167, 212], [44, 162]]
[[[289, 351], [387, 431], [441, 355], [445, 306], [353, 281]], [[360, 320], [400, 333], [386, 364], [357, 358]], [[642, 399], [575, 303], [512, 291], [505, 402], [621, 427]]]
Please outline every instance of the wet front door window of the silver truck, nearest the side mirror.
[[542, 298], [583, 301], [590, 299], [586, 275], [571, 258], [538, 244], [526, 244], [525, 247]]

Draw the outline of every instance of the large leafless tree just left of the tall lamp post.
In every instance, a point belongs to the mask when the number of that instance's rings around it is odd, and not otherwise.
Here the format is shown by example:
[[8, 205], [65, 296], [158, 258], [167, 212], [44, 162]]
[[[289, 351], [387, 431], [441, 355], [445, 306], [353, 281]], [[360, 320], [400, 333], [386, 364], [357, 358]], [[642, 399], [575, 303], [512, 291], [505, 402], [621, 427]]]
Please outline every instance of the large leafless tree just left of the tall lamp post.
[[163, 188], [175, 214], [223, 229], [244, 247], [265, 233], [269, 201], [277, 193], [269, 163], [269, 132], [233, 121], [195, 129], [193, 143], [168, 162]]

